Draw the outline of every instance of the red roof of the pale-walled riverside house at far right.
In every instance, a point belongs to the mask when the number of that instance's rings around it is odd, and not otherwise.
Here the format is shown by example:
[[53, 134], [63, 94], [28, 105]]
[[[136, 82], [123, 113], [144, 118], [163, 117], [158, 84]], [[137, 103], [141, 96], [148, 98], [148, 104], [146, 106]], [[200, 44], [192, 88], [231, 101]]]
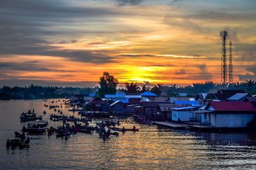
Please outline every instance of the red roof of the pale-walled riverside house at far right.
[[256, 111], [255, 106], [246, 101], [211, 101], [207, 108], [209, 106], [215, 111]]

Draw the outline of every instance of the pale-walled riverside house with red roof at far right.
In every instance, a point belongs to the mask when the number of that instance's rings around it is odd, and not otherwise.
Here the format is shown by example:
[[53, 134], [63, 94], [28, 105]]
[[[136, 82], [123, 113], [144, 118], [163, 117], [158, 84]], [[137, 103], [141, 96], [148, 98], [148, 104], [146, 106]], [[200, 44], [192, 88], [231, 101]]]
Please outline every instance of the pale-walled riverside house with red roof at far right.
[[193, 114], [198, 128], [244, 128], [255, 118], [255, 106], [246, 101], [211, 101]]

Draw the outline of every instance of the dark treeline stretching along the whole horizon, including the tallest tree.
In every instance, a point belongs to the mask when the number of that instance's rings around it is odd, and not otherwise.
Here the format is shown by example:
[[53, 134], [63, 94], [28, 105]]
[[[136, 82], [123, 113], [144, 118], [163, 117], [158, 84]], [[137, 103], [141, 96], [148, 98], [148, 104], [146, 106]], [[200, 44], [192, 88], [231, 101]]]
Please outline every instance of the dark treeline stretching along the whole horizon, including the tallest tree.
[[89, 95], [104, 97], [104, 94], [115, 94], [116, 91], [126, 93], [140, 93], [145, 91], [153, 92], [158, 96], [175, 97], [184, 93], [188, 97], [195, 97], [198, 93], [216, 92], [219, 89], [239, 90], [243, 89], [250, 95], [256, 94], [256, 82], [246, 80], [237, 83], [193, 83], [192, 85], [179, 86], [177, 84], [164, 85], [157, 83], [149, 85], [148, 82], [141, 84], [136, 82], [125, 82], [123, 88], [117, 88], [120, 84], [118, 80], [108, 72], [104, 72], [100, 77], [99, 87], [42, 87], [31, 84], [29, 87], [8, 87], [0, 88], [0, 100], [10, 99], [50, 99], [71, 97], [74, 95]]

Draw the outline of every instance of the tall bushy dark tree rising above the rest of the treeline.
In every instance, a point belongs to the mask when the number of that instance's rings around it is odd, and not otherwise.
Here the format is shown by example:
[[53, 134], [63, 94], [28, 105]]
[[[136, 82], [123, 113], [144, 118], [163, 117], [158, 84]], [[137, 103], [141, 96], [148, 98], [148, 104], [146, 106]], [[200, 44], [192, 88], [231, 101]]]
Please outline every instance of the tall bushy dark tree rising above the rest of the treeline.
[[118, 85], [118, 80], [109, 74], [108, 72], [104, 72], [100, 77], [100, 81], [98, 82], [100, 85], [98, 96], [104, 98], [105, 94], [115, 94], [116, 87]]

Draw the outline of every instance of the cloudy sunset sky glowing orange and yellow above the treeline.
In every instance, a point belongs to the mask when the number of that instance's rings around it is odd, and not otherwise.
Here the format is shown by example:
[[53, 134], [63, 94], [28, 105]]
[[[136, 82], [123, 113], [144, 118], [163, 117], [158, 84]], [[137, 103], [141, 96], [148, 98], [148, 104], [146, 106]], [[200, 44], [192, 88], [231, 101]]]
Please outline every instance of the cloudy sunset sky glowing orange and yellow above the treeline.
[[220, 82], [224, 29], [256, 79], [255, 0], [1, 0], [0, 22], [0, 86]]

